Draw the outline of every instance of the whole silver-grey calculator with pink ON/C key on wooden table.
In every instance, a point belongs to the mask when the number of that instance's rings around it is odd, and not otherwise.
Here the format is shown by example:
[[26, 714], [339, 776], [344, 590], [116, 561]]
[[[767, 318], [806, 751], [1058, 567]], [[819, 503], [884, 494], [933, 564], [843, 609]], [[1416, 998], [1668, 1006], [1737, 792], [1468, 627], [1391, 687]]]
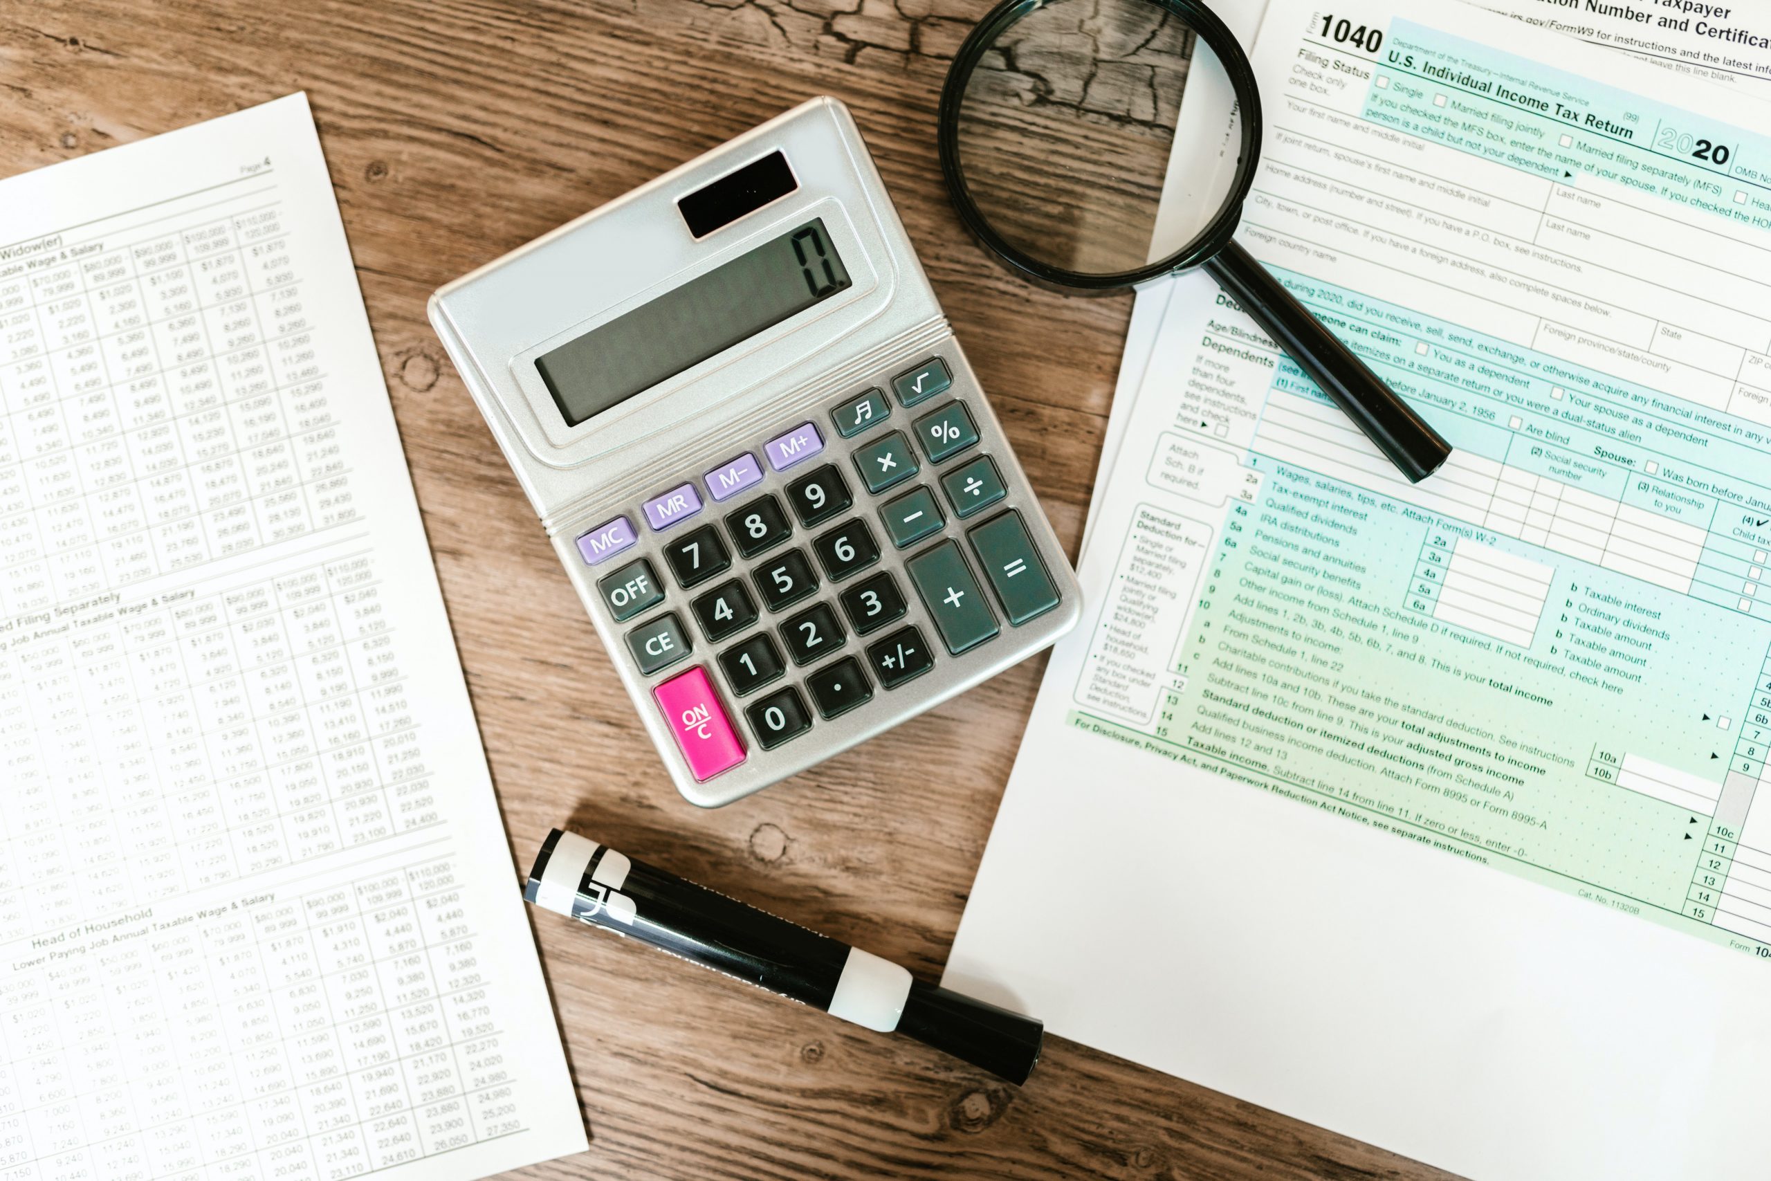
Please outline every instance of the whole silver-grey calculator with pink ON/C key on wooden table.
[[836, 99], [448, 283], [430, 322], [694, 804], [864, 742], [1080, 614]]

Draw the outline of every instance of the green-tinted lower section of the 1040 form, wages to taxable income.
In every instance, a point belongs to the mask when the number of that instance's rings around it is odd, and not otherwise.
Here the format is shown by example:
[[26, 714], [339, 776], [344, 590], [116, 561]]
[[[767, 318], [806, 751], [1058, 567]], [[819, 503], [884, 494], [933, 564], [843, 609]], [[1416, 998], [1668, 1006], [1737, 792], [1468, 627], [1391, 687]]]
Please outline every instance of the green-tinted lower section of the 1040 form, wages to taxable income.
[[[1089, 710], [1071, 724], [1771, 954], [1691, 903], [1700, 859], [1732, 848], [1709, 850], [1714, 804], [1619, 783], [1628, 760], [1720, 793], [1767, 657], [1762, 621], [1268, 457], [1250, 464], [1266, 480], [1227, 510], [1174, 655], [1178, 687], [1146, 729]], [[1555, 563], [1539, 567], [1548, 586], [1525, 643], [1410, 604], [1422, 558], [1459, 547]], [[1569, 660], [1582, 629], [1628, 636], [1640, 678]]]

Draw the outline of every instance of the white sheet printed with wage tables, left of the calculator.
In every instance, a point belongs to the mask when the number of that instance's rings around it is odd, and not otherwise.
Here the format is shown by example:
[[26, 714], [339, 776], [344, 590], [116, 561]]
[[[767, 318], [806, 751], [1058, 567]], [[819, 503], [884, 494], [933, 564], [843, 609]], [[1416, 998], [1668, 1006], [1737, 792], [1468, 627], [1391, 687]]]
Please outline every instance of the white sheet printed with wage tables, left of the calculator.
[[306, 97], [0, 227], [0, 1177], [583, 1149]]

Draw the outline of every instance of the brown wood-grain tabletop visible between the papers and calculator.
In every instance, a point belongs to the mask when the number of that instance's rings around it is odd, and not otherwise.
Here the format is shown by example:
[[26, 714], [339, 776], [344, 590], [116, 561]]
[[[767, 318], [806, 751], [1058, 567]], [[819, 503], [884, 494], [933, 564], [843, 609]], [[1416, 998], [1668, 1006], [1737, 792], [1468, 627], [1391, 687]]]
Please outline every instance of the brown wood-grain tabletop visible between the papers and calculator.
[[[0, 175], [306, 90], [526, 868], [568, 823], [937, 979], [1045, 666], [726, 809], [671, 788], [425, 297], [815, 94], [854, 110], [1075, 556], [1130, 299], [997, 271], [935, 163], [985, 0], [5, 0]], [[924, 768], [939, 767], [939, 776]], [[535, 1177], [1443, 1177], [1057, 1038], [1015, 1089], [537, 915], [590, 1151]]]

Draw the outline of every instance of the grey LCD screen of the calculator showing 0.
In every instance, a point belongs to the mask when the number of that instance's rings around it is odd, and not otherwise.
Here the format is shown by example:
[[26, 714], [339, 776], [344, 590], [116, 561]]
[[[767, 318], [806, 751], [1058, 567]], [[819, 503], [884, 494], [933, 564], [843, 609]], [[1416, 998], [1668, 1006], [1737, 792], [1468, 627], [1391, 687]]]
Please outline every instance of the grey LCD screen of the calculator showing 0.
[[815, 218], [544, 352], [535, 368], [576, 427], [848, 285]]

